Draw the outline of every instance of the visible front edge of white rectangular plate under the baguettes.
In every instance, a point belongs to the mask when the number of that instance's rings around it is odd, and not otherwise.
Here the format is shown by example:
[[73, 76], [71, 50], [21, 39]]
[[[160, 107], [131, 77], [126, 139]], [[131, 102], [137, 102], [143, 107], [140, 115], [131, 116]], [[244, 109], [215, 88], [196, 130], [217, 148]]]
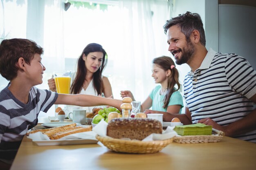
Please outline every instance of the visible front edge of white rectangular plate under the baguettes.
[[41, 140], [33, 141], [38, 146], [52, 146], [52, 145], [77, 145], [77, 144], [97, 144], [98, 140], [92, 139], [66, 139], [66, 140]]

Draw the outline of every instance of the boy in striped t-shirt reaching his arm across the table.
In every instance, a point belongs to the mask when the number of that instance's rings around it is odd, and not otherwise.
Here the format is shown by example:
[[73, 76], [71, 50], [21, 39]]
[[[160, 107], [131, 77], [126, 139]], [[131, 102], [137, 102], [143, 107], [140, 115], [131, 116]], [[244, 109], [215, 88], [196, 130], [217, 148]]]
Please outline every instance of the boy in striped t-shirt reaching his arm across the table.
[[53, 104], [76, 106], [110, 105], [121, 100], [92, 95], [66, 95], [35, 86], [43, 83], [43, 49], [31, 40], [10, 39], [0, 44], [0, 74], [10, 81], [0, 92], [0, 160], [12, 160], [28, 129], [36, 126], [40, 111]]

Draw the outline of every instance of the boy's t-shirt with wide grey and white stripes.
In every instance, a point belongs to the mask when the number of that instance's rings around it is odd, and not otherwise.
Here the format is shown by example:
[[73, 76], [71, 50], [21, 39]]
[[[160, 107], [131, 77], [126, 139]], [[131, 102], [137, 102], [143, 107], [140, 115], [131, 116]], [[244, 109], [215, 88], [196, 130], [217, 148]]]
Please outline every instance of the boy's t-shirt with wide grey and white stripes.
[[9, 159], [8, 153], [17, 150], [27, 130], [36, 126], [39, 112], [47, 112], [58, 97], [58, 93], [32, 87], [24, 104], [8, 86], [0, 91], [0, 159]]

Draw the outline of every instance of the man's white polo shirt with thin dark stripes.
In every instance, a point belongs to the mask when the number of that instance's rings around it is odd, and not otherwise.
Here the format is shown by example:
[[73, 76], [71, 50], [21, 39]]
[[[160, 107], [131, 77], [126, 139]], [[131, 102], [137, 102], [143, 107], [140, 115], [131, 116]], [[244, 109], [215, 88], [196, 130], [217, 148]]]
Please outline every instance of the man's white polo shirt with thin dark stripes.
[[[256, 94], [256, 71], [234, 53], [216, 53], [210, 49], [201, 66], [186, 75], [184, 98], [192, 123], [211, 118], [226, 126], [254, 110], [249, 99]], [[256, 142], [256, 130], [236, 138]]]

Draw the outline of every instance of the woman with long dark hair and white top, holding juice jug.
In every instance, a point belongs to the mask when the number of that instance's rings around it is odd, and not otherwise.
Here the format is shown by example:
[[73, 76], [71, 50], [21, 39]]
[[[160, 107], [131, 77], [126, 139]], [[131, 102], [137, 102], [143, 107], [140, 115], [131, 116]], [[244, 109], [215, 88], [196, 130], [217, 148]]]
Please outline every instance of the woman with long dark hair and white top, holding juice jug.
[[[77, 71], [70, 88], [71, 94], [97, 95], [113, 98], [112, 88], [102, 72], [107, 64], [107, 53], [100, 44], [91, 43], [83, 49], [77, 61]], [[51, 91], [56, 92], [54, 79], [48, 80]], [[92, 108], [89, 109], [91, 112]]]

